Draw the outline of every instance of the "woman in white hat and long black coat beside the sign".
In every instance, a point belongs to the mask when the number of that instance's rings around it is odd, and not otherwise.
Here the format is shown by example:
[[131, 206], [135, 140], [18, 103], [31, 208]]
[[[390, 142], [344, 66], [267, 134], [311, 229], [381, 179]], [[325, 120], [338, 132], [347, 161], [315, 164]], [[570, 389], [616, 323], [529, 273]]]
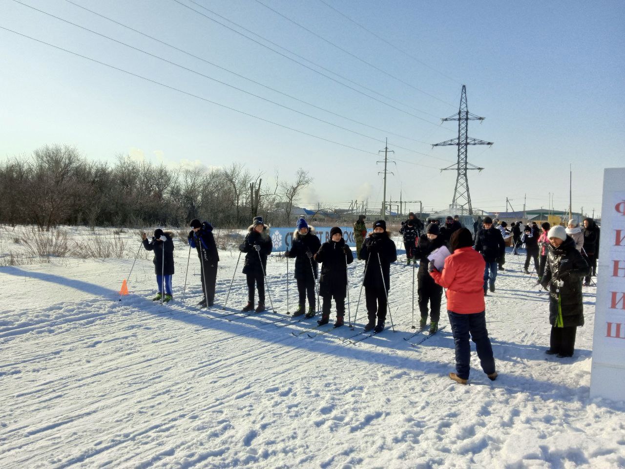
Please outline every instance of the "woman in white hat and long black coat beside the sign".
[[547, 236], [547, 265], [541, 280], [549, 291], [551, 337], [546, 353], [562, 358], [573, 355], [577, 326], [584, 325], [582, 278], [590, 268], [564, 226], [553, 226]]

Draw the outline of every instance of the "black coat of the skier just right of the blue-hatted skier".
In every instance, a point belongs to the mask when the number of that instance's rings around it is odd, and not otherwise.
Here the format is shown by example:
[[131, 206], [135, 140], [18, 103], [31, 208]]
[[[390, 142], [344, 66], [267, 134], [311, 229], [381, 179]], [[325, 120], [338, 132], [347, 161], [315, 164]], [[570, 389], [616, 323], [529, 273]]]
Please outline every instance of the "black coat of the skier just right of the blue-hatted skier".
[[[349, 250], [344, 248], [347, 247]], [[347, 264], [354, 261], [354, 254], [345, 244], [345, 240], [328, 241], [323, 243], [314, 256], [321, 263], [321, 276], [319, 277], [319, 295], [345, 298], [347, 295]]]

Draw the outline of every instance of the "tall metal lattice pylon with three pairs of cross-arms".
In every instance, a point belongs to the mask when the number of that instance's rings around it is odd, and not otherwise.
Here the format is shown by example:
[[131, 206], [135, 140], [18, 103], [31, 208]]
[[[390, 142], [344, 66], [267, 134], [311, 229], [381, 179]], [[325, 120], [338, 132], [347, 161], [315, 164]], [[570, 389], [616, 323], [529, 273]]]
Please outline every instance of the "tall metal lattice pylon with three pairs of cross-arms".
[[442, 122], [446, 121], [458, 121], [458, 137], [446, 140], [441, 143], [435, 143], [434, 146], [449, 146], [455, 145], [458, 147], [458, 161], [456, 164], [442, 168], [441, 171], [447, 171], [456, 169], [456, 188], [454, 189], [454, 199], [451, 202], [450, 208], [459, 209], [462, 213], [468, 210], [469, 215], [473, 214], [473, 208], [471, 207], [471, 194], [469, 194], [469, 179], [467, 178], [467, 171], [469, 169], [477, 169], [482, 171], [484, 168], [479, 168], [474, 164], [467, 163], [467, 148], [469, 145], [492, 145], [492, 142], [484, 140], [478, 140], [476, 138], [469, 138], [468, 129], [469, 121], [483, 121], [484, 118], [475, 116], [469, 113], [467, 108], [467, 90], [466, 86], [462, 85], [462, 95], [460, 96], [460, 108], [458, 113], [449, 116], [446, 119], [442, 119]]

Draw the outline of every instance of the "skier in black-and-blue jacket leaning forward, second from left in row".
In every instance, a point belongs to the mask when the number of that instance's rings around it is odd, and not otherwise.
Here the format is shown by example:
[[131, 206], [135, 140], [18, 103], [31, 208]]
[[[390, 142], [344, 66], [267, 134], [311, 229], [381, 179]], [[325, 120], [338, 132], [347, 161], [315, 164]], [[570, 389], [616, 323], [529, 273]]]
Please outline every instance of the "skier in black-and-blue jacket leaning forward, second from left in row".
[[217, 245], [215, 244], [215, 237], [212, 235], [212, 225], [210, 223], [207, 221], [200, 223], [199, 219], [195, 218], [191, 220], [190, 226], [189, 246], [196, 248], [202, 281], [202, 300], [198, 305], [210, 307], [215, 301], [219, 253], [217, 253]]

